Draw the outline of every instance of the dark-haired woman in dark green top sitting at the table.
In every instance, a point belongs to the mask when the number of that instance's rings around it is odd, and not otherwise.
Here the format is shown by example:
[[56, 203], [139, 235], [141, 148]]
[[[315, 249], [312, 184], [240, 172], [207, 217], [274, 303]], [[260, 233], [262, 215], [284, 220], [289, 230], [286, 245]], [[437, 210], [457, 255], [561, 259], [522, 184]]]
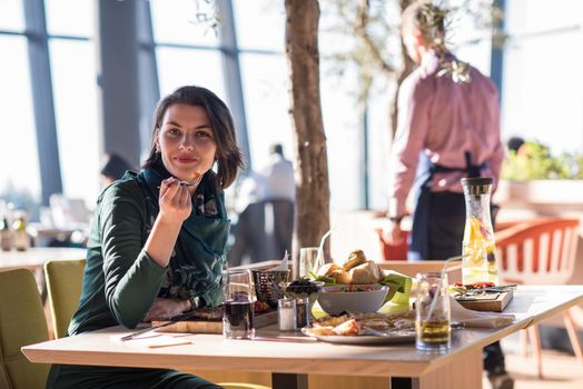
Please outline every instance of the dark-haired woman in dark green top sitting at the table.
[[[216, 94], [182, 87], [164, 98], [142, 170], [98, 199], [68, 335], [219, 305], [229, 230], [223, 190], [241, 166], [230, 112]], [[81, 387], [218, 388], [174, 370], [52, 366], [48, 388]]]

